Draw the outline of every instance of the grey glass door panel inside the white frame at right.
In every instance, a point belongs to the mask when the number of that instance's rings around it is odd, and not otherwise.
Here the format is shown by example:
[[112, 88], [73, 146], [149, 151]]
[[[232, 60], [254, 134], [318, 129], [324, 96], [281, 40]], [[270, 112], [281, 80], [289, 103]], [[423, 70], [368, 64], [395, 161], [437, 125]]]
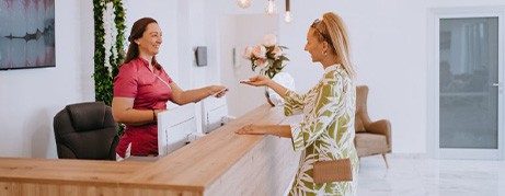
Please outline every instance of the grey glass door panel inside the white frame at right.
[[498, 24], [498, 16], [439, 19], [441, 152], [500, 152]]

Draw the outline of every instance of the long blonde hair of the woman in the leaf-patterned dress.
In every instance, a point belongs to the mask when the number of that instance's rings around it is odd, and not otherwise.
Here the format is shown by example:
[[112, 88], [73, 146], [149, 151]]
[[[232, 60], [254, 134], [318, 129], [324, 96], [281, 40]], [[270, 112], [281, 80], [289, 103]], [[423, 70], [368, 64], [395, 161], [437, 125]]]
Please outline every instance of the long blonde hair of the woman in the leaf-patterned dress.
[[356, 71], [353, 64], [351, 64], [347, 30], [342, 18], [333, 12], [326, 12], [323, 14], [322, 20], [315, 20], [310, 27], [315, 28], [313, 32], [320, 42], [325, 41], [330, 44], [331, 50], [341, 57], [338, 58], [338, 64], [344, 67], [347, 74], [354, 80]]

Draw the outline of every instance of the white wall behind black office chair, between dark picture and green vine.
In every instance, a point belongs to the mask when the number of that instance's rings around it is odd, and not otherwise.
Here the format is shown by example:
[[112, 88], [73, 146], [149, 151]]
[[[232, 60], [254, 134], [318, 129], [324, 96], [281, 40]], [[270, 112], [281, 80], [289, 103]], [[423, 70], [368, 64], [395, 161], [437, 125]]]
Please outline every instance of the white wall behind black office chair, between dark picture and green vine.
[[56, 158], [54, 115], [94, 100], [90, 9], [91, 1], [56, 1], [56, 68], [0, 71], [1, 157]]

